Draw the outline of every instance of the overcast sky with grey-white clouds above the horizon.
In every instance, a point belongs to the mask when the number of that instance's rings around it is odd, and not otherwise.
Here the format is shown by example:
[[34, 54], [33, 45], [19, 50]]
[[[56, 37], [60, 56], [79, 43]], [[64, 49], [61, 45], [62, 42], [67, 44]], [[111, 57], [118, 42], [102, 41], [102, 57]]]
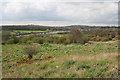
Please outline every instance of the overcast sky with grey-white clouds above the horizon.
[[2, 0], [0, 24], [117, 25], [117, 2], [118, 0]]

